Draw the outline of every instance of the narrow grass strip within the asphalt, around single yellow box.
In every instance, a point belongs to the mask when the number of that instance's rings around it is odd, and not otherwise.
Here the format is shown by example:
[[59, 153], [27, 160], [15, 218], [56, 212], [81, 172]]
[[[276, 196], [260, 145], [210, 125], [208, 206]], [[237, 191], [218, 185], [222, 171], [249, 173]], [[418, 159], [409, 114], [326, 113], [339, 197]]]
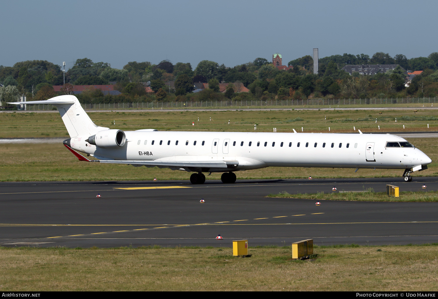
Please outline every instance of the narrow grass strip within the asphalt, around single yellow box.
[[[426, 191], [425, 189], [418, 188], [417, 192], [402, 191], [399, 197], [389, 197], [386, 192], [374, 192], [372, 189], [366, 189], [362, 192], [346, 192], [339, 193], [337, 190], [330, 193], [318, 192], [318, 193], [297, 193], [289, 194], [286, 191], [269, 194], [266, 197], [280, 197], [280, 198], [306, 198], [306, 199], [324, 199], [328, 201], [399, 201], [399, 202], [438, 202], [437, 191]], [[424, 190], [424, 191], [420, 191]]]

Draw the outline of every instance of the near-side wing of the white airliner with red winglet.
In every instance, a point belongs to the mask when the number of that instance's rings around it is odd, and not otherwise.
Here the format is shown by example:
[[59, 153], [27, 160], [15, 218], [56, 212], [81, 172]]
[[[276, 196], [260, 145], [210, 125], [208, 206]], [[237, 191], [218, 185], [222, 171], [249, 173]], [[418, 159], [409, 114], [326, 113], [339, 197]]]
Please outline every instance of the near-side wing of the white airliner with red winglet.
[[79, 154], [73, 148], [69, 147], [67, 144], [64, 144], [69, 151], [75, 155], [79, 161], [87, 161], [87, 162], [100, 162], [100, 163], [113, 163], [113, 164], [131, 164], [131, 165], [145, 165], [148, 167], [196, 167], [196, 168], [224, 168], [226, 169], [228, 166], [225, 161], [145, 161], [145, 160], [89, 160], [85, 158], [83, 155]]

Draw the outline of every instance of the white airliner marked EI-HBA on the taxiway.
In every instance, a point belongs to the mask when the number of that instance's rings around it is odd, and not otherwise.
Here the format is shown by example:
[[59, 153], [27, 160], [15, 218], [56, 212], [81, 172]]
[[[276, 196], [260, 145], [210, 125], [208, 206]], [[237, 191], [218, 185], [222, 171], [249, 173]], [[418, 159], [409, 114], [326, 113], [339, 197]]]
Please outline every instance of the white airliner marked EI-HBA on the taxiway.
[[409, 182], [411, 172], [427, 169], [432, 162], [405, 139], [390, 134], [122, 131], [96, 126], [74, 95], [26, 104], [57, 106], [71, 137], [64, 145], [81, 161], [194, 172], [193, 184], [205, 182], [202, 172], [223, 172], [222, 182], [234, 183], [236, 171], [269, 166], [405, 169], [403, 177]]

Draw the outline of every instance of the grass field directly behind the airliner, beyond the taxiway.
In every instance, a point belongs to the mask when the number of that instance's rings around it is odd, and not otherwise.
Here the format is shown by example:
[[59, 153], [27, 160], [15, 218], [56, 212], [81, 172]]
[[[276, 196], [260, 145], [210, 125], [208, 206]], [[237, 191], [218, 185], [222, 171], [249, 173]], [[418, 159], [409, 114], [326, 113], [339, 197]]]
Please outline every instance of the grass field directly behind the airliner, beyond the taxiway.
[[[254, 131], [292, 132], [354, 132], [353, 126], [363, 132], [438, 130], [438, 111], [175, 111], [175, 112], [99, 112], [89, 113], [101, 126], [122, 130], [154, 128], [157, 130], [186, 131]], [[199, 117], [199, 122], [198, 122]], [[211, 121], [210, 121], [211, 117]], [[326, 117], [326, 120], [324, 119]], [[375, 118], [378, 118], [377, 124]], [[395, 122], [397, 118], [397, 123]], [[116, 125], [113, 125], [113, 121]], [[230, 120], [230, 125], [228, 124]], [[192, 126], [192, 122], [195, 126]], [[429, 129], [427, 124], [429, 123]], [[66, 137], [59, 113], [0, 113], [0, 137]], [[414, 176], [438, 175], [438, 151], [435, 138], [409, 140], [431, 159], [428, 169]], [[0, 181], [71, 181], [71, 180], [159, 180], [187, 179], [188, 172], [158, 168], [134, 168], [131, 165], [100, 165], [79, 162], [62, 144], [0, 144]], [[340, 178], [340, 177], [396, 177], [402, 170], [321, 169], [321, 168], [267, 168], [237, 172], [237, 179]], [[207, 179], [220, 179], [213, 173]]]

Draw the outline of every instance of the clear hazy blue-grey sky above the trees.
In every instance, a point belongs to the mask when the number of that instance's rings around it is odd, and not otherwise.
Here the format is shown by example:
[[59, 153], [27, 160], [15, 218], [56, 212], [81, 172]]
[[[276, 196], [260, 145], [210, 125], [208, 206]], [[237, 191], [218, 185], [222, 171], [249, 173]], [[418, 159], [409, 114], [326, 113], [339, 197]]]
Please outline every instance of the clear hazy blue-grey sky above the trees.
[[438, 1], [2, 1], [0, 65], [79, 58], [121, 69], [130, 61], [227, 67], [283, 56], [438, 52]]

